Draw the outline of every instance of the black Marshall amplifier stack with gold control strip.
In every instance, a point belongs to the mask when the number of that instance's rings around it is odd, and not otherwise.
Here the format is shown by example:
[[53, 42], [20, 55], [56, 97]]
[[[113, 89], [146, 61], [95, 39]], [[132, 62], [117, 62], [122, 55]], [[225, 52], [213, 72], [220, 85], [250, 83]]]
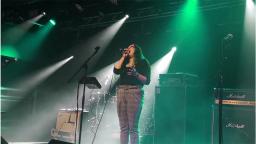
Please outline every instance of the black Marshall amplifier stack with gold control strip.
[[[218, 144], [219, 89], [214, 89], [212, 144]], [[223, 89], [223, 144], [255, 144], [255, 92], [248, 89]]]

